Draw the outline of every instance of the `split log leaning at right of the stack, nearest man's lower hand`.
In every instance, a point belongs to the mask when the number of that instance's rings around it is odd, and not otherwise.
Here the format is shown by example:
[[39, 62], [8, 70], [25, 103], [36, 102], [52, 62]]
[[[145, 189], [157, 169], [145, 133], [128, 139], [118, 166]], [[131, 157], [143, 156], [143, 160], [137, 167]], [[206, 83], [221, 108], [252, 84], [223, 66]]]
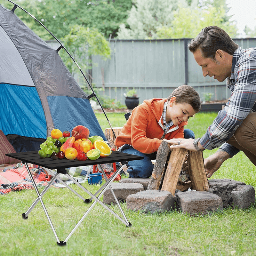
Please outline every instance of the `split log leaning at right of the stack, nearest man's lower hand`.
[[201, 151], [188, 152], [188, 173], [196, 191], [208, 191], [209, 182], [204, 168], [204, 157]]

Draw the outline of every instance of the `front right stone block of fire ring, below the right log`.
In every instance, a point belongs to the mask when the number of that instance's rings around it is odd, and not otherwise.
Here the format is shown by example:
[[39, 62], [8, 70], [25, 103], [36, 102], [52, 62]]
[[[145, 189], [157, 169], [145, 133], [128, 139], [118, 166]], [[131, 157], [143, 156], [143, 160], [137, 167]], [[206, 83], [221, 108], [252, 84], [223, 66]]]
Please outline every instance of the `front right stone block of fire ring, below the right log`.
[[190, 216], [223, 210], [220, 196], [206, 191], [178, 192], [177, 199], [177, 210]]

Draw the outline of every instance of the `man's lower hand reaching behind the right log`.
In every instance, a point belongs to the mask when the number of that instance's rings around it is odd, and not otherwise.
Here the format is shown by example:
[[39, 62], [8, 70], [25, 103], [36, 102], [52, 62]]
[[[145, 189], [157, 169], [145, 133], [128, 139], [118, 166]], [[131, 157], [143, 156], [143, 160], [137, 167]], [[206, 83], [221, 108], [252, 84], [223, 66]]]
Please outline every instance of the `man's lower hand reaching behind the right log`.
[[216, 153], [204, 159], [204, 167], [207, 177], [212, 177], [212, 174], [216, 172], [221, 164], [223, 164], [229, 157], [230, 156], [226, 151], [219, 149]]

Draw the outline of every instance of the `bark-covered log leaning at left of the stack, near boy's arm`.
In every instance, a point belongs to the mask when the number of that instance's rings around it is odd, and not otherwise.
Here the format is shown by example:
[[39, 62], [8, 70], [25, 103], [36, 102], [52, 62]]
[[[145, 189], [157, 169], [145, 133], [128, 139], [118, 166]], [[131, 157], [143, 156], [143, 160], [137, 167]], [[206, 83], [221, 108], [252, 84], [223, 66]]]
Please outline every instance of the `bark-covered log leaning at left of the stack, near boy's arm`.
[[156, 154], [156, 163], [154, 165], [154, 169], [148, 183], [147, 190], [158, 190], [161, 185], [161, 179], [164, 175], [164, 167], [167, 161], [167, 157], [170, 151], [170, 144], [166, 141], [162, 141], [160, 144], [157, 154]]

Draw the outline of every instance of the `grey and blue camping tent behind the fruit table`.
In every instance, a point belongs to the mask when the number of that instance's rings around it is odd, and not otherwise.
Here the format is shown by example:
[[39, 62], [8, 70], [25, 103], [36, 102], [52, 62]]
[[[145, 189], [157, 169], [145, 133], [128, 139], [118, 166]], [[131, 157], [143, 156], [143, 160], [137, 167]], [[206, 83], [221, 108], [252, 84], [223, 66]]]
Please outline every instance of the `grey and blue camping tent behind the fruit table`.
[[0, 129], [17, 152], [39, 149], [57, 128], [84, 125], [106, 140], [88, 96], [52, 49], [0, 5]]

